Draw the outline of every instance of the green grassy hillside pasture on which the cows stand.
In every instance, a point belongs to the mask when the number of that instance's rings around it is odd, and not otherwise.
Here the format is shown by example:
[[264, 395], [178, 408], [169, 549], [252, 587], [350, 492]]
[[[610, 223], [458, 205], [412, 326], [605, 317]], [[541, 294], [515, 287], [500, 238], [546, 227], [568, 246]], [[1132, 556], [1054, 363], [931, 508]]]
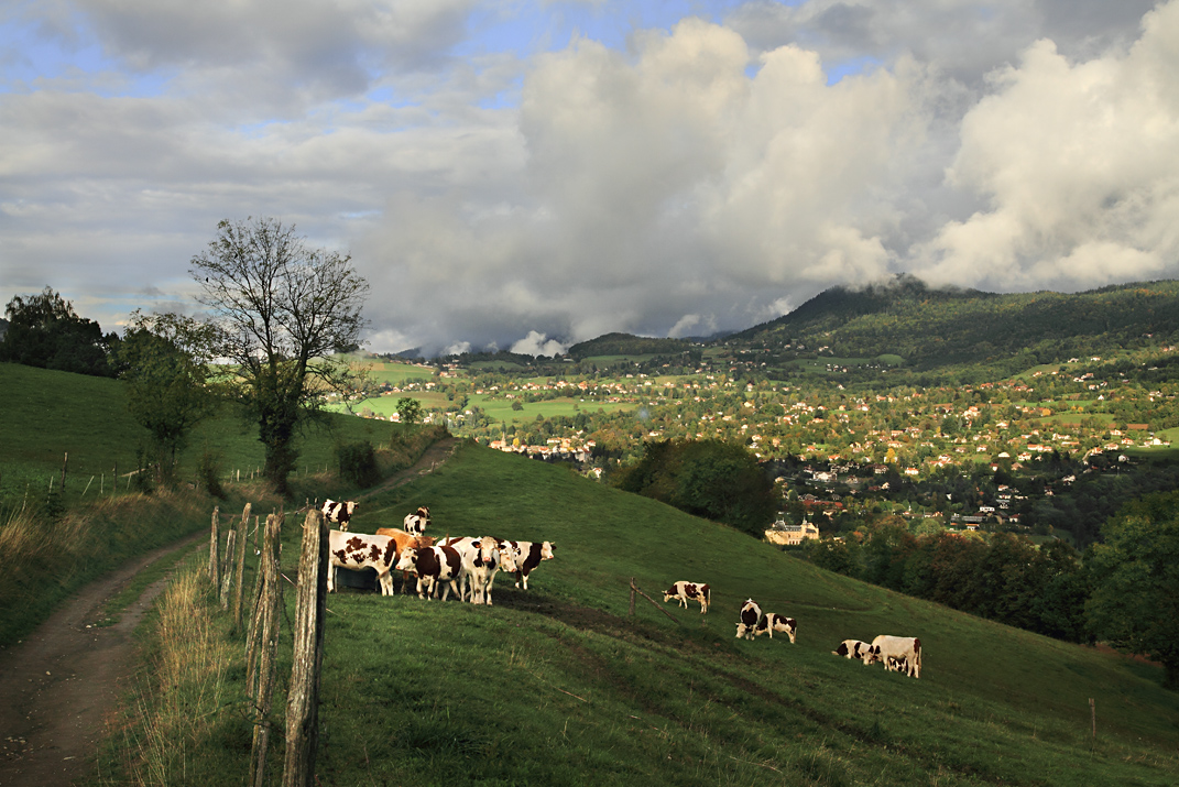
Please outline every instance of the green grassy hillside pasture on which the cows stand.
[[[562, 468], [470, 445], [369, 498], [353, 529], [371, 533], [420, 504], [435, 535], [551, 540], [556, 558], [527, 593], [501, 575], [493, 608], [331, 597], [321, 783], [1179, 780], [1179, 696], [1159, 688], [1154, 667], [829, 574]], [[632, 576], [657, 600], [674, 580], [709, 582], [713, 608], [664, 606], [677, 624], [640, 597], [631, 617]], [[798, 643], [735, 640], [746, 597], [796, 617]], [[922, 639], [920, 681], [830, 653], [882, 633]]]

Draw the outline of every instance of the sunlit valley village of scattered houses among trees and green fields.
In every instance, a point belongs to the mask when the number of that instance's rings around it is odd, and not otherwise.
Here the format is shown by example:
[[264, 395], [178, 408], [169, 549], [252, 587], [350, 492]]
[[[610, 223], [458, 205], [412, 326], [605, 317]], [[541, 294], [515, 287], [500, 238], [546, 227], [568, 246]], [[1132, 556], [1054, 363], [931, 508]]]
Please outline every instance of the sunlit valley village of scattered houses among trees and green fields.
[[1179, 391], [1151, 378], [1154, 355], [920, 388], [891, 385], [875, 364], [859, 364], [872, 382], [849, 381], [855, 364], [822, 355], [773, 379], [756, 351], [700, 350], [601, 364], [556, 358], [545, 375], [462, 358], [370, 358], [358, 364], [367, 386], [347, 409], [397, 421], [397, 403], [414, 398], [423, 418], [456, 436], [599, 478], [648, 442], [738, 442], [780, 490], [779, 516], [766, 523], [780, 543], [893, 514], [915, 534], [1009, 530], [1084, 545], [1099, 523], [1071, 517], [1074, 487], [1131, 474], [1179, 437]]

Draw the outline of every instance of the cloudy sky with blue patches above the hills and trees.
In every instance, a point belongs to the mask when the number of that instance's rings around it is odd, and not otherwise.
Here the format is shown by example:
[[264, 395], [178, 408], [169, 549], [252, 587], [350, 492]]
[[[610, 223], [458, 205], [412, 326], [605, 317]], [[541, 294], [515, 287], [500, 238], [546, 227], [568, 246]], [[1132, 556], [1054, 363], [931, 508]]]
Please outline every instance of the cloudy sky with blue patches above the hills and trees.
[[1179, 0], [0, 0], [4, 303], [197, 313], [248, 217], [375, 352], [1179, 278]]

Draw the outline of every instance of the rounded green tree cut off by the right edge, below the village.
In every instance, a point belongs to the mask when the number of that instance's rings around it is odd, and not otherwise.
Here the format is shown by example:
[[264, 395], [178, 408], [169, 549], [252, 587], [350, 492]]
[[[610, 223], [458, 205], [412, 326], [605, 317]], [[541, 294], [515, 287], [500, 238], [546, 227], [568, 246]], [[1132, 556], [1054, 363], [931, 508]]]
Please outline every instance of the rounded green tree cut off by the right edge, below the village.
[[1179, 492], [1150, 495], [1108, 520], [1086, 564], [1089, 629], [1119, 650], [1162, 663], [1179, 689]]

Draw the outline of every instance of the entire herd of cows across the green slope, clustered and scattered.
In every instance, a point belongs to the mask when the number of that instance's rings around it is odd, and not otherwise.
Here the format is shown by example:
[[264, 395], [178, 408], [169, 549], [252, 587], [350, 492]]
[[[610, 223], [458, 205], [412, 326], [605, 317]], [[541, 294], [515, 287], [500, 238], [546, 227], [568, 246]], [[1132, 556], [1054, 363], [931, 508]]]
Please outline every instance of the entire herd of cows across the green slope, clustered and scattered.
[[[321, 509], [323, 516], [336, 523], [338, 529], [329, 534], [331, 551], [331, 570], [328, 573], [328, 593], [335, 593], [335, 569], [347, 568], [358, 571], [365, 568], [376, 570], [381, 584], [381, 595], [393, 594], [393, 571], [402, 573], [401, 593], [410, 578], [416, 578], [417, 595], [421, 598], [434, 597], [439, 586], [442, 589], [442, 601], [454, 590], [460, 601], [474, 604], [492, 603], [492, 586], [499, 571], [515, 574], [515, 587], [523, 584], [528, 589], [528, 574], [541, 561], [553, 558], [553, 543], [549, 541], [505, 541], [492, 536], [481, 537], [446, 537], [441, 542], [424, 535], [430, 523], [430, 510], [421, 507], [408, 515], [402, 525], [404, 529], [378, 528], [376, 534], [349, 533], [349, 521], [356, 510], [356, 502], [327, 501]], [[709, 611], [712, 603], [712, 589], [703, 582], [674, 582], [664, 591], [664, 603], [679, 601], [687, 608], [689, 601], [700, 604], [700, 614]], [[773, 639], [775, 631], [790, 637], [791, 644], [798, 635], [798, 621], [777, 613], [763, 613], [760, 606], [752, 598], [746, 598], [740, 608], [740, 620], [737, 621], [737, 639], [752, 640], [762, 634]], [[832, 650], [837, 656], [859, 659], [864, 666], [881, 662], [889, 672], [903, 672], [910, 677], [921, 677], [921, 640], [911, 636], [889, 636], [882, 634], [870, 643], [861, 640], [844, 640]]]

